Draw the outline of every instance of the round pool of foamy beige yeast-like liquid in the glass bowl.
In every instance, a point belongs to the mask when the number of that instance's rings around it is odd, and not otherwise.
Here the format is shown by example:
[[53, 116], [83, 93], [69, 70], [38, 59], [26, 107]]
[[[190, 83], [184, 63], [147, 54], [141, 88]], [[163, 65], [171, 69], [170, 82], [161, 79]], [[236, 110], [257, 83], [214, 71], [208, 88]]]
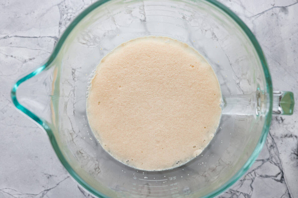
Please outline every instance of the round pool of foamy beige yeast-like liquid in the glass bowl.
[[207, 60], [169, 37], [139, 37], [108, 53], [87, 98], [95, 137], [115, 159], [165, 170], [199, 155], [221, 118], [221, 90]]

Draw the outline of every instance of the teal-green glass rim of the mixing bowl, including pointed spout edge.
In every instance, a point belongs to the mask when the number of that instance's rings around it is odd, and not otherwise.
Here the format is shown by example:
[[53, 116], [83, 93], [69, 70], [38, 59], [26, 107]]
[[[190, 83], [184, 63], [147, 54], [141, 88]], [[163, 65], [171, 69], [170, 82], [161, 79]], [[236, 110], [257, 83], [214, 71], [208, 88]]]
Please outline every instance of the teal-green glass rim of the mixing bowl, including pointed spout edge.
[[[13, 104], [15, 105], [15, 107], [19, 110], [21, 110], [23, 113], [25, 113], [26, 115], [28, 115], [30, 118], [32, 118], [34, 121], [36, 121], [38, 124], [41, 125], [41, 127], [46, 131], [46, 133], [49, 136], [49, 140], [52, 144], [52, 147], [56, 153], [56, 155], [58, 156], [58, 159], [60, 160], [60, 162], [63, 164], [63, 166], [66, 168], [66, 170], [69, 172], [69, 174], [77, 181], [77, 183], [80, 184], [80, 186], [82, 186], [84, 189], [86, 189], [89, 193], [93, 194], [96, 197], [101, 197], [101, 198], [106, 198], [108, 196], [104, 195], [103, 193], [101, 193], [100, 191], [97, 191], [96, 189], [94, 189], [93, 187], [91, 187], [86, 181], [84, 181], [76, 172], [75, 170], [70, 166], [70, 164], [67, 162], [67, 160], [64, 158], [58, 144], [57, 141], [54, 137], [54, 134], [52, 132], [52, 129], [49, 127], [48, 123], [46, 121], [44, 121], [42, 118], [39, 118], [37, 115], [35, 115], [34, 113], [32, 113], [30, 110], [28, 110], [27, 108], [25, 108], [24, 106], [22, 106], [17, 98], [16, 98], [16, 91], [18, 89], [18, 86], [23, 83], [25, 80], [30, 79], [31, 77], [34, 77], [35, 75], [38, 75], [40, 72], [42, 72], [44, 69], [46, 69], [51, 63], [52, 61], [56, 58], [56, 56], [58, 55], [64, 41], [66, 40], [66, 38], [68, 37], [68, 35], [70, 34], [70, 32], [73, 30], [73, 28], [75, 28], [75, 26], [86, 16], [88, 15], [91, 11], [93, 11], [94, 9], [96, 9], [97, 7], [99, 7], [100, 5], [111, 1], [111, 0], [99, 0], [94, 2], [93, 4], [91, 4], [89, 7], [87, 7], [86, 9], [83, 10], [83, 12], [81, 12], [70, 24], [69, 26], [65, 29], [65, 31], [63, 32], [63, 34], [61, 35], [60, 39], [58, 40], [52, 54], [50, 55], [50, 57], [47, 59], [47, 61], [40, 65], [37, 69], [34, 69], [32, 72], [30, 72], [29, 74], [25, 75], [24, 77], [21, 77], [19, 80], [17, 80], [15, 82], [15, 84], [13, 84], [13, 87], [11, 89], [11, 99], [13, 101]], [[198, 0], [196, 0], [198, 1]], [[218, 189], [215, 189], [214, 191], [212, 191], [209, 194], [204, 195], [201, 198], [207, 198], [207, 197], [215, 197], [218, 194], [223, 193], [224, 191], [226, 191], [226, 189], [230, 188], [254, 163], [255, 159], [257, 158], [257, 156], [259, 155], [260, 151], [263, 148], [264, 142], [266, 140], [268, 131], [269, 131], [269, 126], [271, 123], [271, 118], [272, 118], [272, 99], [273, 99], [273, 91], [272, 91], [272, 82], [271, 82], [271, 76], [270, 76], [270, 72], [266, 63], [266, 59], [265, 56], [263, 54], [263, 51], [259, 45], [259, 43], [257, 42], [257, 39], [254, 37], [254, 34], [250, 31], [250, 29], [245, 25], [245, 23], [237, 16], [235, 15], [229, 8], [227, 8], [225, 5], [221, 4], [220, 2], [216, 1], [216, 0], [201, 0], [201, 1], [206, 1], [209, 2], [213, 5], [215, 5], [216, 7], [218, 7], [219, 9], [221, 9], [222, 11], [224, 11], [227, 15], [229, 15], [239, 26], [240, 28], [245, 32], [246, 36], [249, 38], [249, 40], [252, 42], [252, 45], [254, 46], [257, 55], [260, 59], [260, 62], [262, 64], [263, 67], [263, 72], [265, 75], [265, 79], [266, 79], [266, 91], [268, 93], [269, 96], [269, 108], [268, 108], [268, 112], [265, 115], [265, 122], [264, 122], [264, 126], [263, 126], [263, 130], [260, 136], [260, 139], [257, 143], [256, 148], [254, 149], [254, 151], [252, 152], [251, 156], [249, 157], [249, 159], [246, 161], [246, 163], [243, 165], [243, 167], [240, 168], [240, 170], [232, 176], [232, 178], [230, 178], [226, 183], [224, 183], [224, 185], [222, 185], [221, 187], [219, 187]]]

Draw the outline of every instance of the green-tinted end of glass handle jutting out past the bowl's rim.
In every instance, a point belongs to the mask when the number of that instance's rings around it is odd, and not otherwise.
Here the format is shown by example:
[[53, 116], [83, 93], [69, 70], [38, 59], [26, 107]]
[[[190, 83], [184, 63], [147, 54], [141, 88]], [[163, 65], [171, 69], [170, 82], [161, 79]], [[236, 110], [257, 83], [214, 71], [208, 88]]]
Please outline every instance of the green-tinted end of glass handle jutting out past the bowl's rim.
[[291, 91], [273, 91], [272, 114], [292, 115], [294, 110], [294, 94]]

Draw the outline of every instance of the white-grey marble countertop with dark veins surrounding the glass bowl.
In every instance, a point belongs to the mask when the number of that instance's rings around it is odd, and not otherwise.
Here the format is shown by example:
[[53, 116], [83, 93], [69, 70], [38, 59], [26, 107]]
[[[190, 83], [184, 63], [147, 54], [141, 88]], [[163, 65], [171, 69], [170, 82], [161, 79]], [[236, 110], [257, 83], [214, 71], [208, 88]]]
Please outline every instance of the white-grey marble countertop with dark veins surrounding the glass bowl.
[[[298, 104], [297, 0], [221, 0], [252, 30], [263, 48], [275, 90], [292, 91]], [[41, 64], [89, 0], [0, 2], [0, 197], [88, 195], [58, 161], [46, 134], [10, 99], [14, 80]], [[273, 116], [258, 159], [221, 198], [298, 197], [298, 105]]]

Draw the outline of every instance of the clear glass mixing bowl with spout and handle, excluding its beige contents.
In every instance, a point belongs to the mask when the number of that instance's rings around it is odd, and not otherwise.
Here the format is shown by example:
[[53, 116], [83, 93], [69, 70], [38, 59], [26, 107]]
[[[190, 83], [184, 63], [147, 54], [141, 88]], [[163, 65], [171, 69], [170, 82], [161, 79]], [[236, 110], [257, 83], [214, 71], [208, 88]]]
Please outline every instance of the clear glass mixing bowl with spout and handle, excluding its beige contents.
[[[86, 118], [86, 86], [120, 43], [168, 36], [197, 49], [221, 85], [221, 123], [200, 156], [173, 170], [128, 167], [103, 151]], [[13, 85], [15, 106], [40, 124], [58, 158], [97, 197], [213, 197], [251, 166], [271, 114], [292, 114], [291, 92], [274, 92], [266, 61], [247, 26], [214, 0], [97, 1], [65, 30], [49, 59]]]

